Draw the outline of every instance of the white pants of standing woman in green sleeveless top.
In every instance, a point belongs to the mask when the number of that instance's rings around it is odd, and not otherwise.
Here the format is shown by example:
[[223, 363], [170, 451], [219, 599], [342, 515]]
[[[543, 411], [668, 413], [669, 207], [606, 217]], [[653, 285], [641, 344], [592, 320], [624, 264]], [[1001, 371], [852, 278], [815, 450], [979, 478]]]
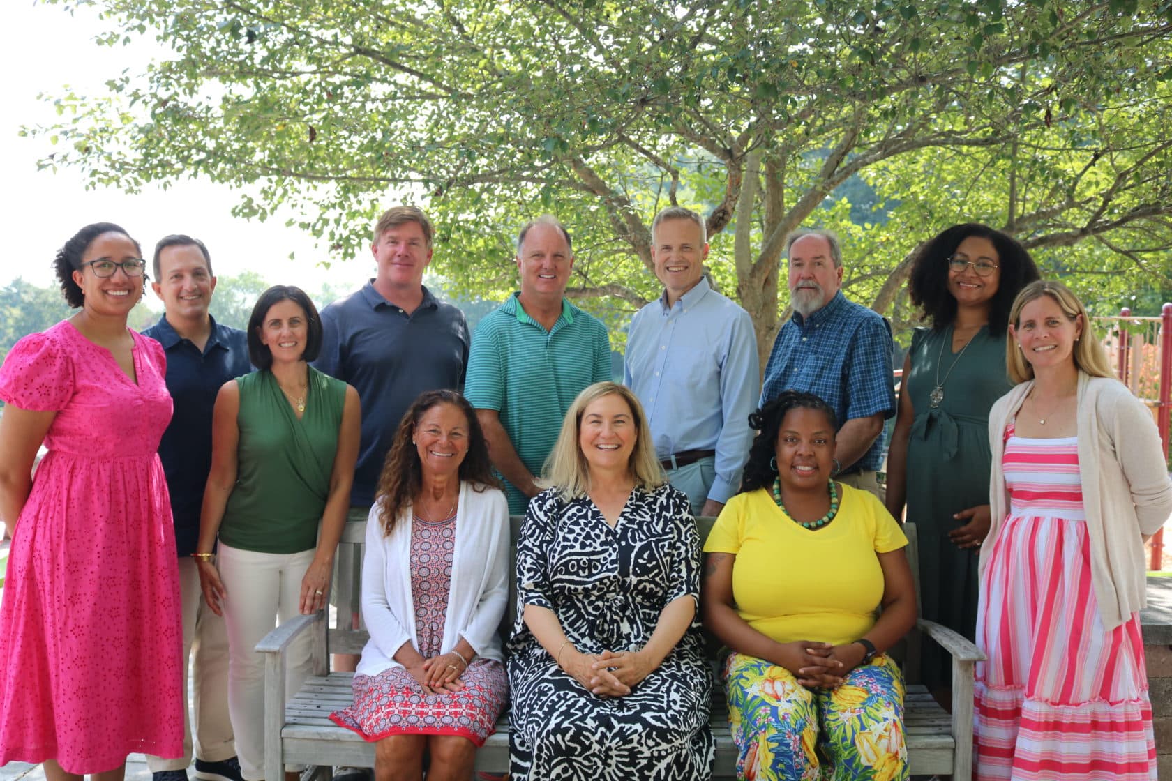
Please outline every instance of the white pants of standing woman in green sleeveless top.
[[[240, 774], [247, 781], [265, 777], [265, 658], [257, 652], [257, 643], [278, 624], [297, 617], [301, 578], [313, 561], [313, 554], [312, 548], [301, 553], [272, 554], [219, 543], [217, 568], [227, 591], [224, 621], [231, 655], [227, 707], [236, 732]], [[308, 678], [311, 650], [308, 632], [289, 646], [286, 697], [293, 697]]]

